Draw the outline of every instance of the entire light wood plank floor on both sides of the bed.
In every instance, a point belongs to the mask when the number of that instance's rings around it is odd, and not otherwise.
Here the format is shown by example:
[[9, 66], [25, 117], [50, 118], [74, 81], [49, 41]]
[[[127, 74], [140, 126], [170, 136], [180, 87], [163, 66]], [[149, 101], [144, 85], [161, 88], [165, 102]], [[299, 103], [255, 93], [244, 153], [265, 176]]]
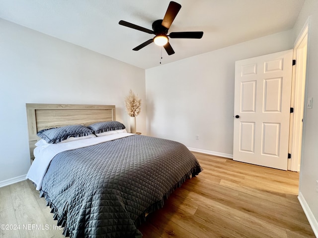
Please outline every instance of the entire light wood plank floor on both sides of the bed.
[[[297, 198], [298, 173], [193, 154], [204, 171], [147, 217], [143, 238], [315, 238]], [[0, 224], [20, 225], [0, 229], [1, 238], [64, 237], [30, 181], [0, 188]]]

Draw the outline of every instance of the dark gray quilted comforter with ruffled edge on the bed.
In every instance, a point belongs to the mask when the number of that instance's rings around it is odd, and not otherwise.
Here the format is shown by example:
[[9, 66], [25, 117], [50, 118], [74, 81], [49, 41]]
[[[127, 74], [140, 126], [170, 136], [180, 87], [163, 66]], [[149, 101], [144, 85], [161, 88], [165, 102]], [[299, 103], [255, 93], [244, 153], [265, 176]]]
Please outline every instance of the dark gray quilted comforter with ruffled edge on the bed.
[[146, 213], [202, 171], [183, 145], [133, 135], [59, 153], [40, 195], [71, 238], [135, 238]]

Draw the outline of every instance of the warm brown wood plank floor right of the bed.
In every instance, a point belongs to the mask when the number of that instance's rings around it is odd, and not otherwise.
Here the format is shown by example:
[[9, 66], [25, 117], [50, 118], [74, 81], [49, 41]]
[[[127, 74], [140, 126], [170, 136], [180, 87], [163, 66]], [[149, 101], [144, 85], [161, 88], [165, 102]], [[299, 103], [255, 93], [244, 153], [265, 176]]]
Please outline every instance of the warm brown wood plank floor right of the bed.
[[145, 238], [315, 238], [297, 198], [299, 173], [193, 154], [204, 171], [149, 215]]

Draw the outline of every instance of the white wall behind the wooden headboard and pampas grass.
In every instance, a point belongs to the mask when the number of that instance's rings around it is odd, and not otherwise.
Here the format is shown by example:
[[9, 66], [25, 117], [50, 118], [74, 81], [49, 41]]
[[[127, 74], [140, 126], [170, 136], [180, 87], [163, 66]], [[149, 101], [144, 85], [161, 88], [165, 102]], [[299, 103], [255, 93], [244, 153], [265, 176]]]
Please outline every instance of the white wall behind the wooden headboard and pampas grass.
[[[25, 103], [116, 105], [129, 129], [124, 98], [145, 102], [145, 70], [0, 19], [0, 185], [30, 167]], [[137, 118], [146, 134], [146, 111]]]

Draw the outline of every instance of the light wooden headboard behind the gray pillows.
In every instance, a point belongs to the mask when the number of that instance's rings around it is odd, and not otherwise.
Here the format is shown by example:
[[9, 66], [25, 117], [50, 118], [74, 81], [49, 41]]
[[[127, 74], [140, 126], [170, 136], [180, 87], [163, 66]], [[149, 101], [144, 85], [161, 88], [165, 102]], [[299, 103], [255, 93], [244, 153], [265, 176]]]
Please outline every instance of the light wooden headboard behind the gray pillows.
[[90, 125], [99, 121], [116, 120], [114, 105], [26, 104], [31, 161], [39, 130], [65, 125]]

